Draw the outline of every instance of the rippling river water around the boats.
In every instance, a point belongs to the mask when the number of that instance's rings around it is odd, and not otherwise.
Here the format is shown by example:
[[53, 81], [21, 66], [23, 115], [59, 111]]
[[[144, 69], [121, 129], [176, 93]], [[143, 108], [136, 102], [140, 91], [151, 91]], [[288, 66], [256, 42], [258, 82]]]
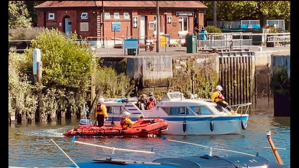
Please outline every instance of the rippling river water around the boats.
[[[101, 149], [83, 144], [71, 143], [71, 138], [63, 137], [62, 133], [79, 123], [72, 121], [52, 121], [49, 124], [22, 124], [8, 128], [8, 162], [15, 167], [66, 167], [71, 161], [53, 144], [52, 138], [75, 162], [92, 161], [96, 158], [118, 158], [134, 161], [152, 161], [161, 157], [180, 157], [203, 155], [208, 149], [164, 141], [161, 137], [155, 138], [80, 138], [77, 141], [99, 144], [108, 147], [138, 149], [150, 151], [153, 147], [155, 154], [129, 153]], [[271, 131], [272, 140], [276, 147], [286, 148], [279, 150], [285, 165], [290, 165], [290, 118], [273, 117], [269, 110], [257, 110], [249, 115], [248, 126], [241, 135], [166, 135], [167, 139], [186, 141], [209, 147], [223, 148], [256, 154], [259, 152], [271, 161], [276, 161], [270, 147], [266, 131]], [[225, 151], [214, 154], [228, 154]]]

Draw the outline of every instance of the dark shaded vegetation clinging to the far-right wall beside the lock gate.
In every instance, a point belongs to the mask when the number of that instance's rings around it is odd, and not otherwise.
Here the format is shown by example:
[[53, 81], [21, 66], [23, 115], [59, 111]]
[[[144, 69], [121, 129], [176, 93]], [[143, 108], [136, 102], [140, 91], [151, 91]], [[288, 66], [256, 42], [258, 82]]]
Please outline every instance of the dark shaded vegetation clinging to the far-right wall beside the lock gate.
[[290, 92], [290, 78], [286, 69], [279, 67], [274, 70], [270, 88], [273, 93], [281, 95], [285, 95]]

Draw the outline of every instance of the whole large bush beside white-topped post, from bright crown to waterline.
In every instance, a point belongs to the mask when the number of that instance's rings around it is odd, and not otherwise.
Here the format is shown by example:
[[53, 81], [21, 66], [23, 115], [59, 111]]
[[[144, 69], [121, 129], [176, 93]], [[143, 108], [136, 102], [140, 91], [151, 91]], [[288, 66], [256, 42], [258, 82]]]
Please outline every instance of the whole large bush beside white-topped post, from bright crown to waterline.
[[92, 53], [76, 43], [77, 34], [66, 38], [59, 30], [43, 30], [25, 50], [24, 69], [32, 71], [34, 48], [41, 50], [43, 107], [42, 120], [52, 112], [78, 112], [86, 103], [91, 84]]

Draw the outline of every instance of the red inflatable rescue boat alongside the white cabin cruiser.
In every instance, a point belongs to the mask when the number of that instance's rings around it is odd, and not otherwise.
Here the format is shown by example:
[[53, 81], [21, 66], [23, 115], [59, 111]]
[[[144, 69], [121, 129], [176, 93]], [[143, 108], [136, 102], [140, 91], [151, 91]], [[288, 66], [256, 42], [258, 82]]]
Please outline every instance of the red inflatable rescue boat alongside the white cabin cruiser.
[[162, 119], [138, 119], [132, 127], [120, 125], [103, 127], [82, 126], [66, 131], [65, 136], [102, 136], [102, 137], [147, 137], [160, 135], [167, 130], [168, 124]]

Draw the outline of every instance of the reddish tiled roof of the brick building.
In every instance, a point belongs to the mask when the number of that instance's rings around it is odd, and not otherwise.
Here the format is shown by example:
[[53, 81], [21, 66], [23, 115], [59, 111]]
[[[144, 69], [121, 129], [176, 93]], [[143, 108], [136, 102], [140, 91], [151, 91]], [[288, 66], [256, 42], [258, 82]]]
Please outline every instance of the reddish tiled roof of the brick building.
[[[101, 6], [102, 1], [45, 1], [35, 8]], [[104, 7], [156, 7], [156, 1], [104, 1]], [[159, 1], [159, 7], [207, 8], [200, 1]]]

